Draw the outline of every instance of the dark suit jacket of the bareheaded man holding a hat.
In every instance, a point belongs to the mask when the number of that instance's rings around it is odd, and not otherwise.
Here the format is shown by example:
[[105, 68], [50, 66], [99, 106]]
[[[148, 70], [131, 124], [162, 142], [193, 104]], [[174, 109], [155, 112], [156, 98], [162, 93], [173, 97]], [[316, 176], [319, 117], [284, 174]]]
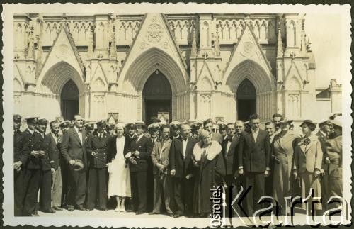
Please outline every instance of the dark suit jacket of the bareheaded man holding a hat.
[[79, 134], [74, 128], [69, 128], [69, 130], [67, 130], [67, 132], [63, 135], [60, 152], [67, 162], [70, 160], [81, 159], [85, 164], [87, 164], [85, 148], [86, 130], [81, 128], [81, 133], [83, 143], [81, 143]]

